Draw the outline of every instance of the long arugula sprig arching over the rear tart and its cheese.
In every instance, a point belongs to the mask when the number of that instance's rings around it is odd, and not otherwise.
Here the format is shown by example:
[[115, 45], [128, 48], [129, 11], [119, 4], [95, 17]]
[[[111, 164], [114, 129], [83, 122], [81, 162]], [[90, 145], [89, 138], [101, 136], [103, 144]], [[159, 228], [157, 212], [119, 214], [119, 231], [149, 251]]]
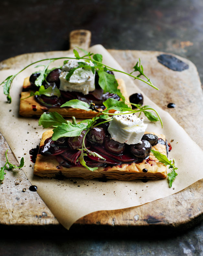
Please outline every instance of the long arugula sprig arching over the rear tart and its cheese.
[[[139, 71], [140, 74], [138, 76], [133, 76], [132, 75], [132, 71], [130, 74], [129, 73], [126, 73], [124, 71], [121, 71], [121, 70], [117, 70], [117, 69], [114, 69], [114, 68], [111, 68], [107, 65], [105, 65], [104, 63], [102, 63], [102, 55], [101, 54], [93, 54], [91, 52], [87, 52], [81, 48], [79, 48], [81, 51], [83, 51], [85, 53], [84, 56], [80, 56], [79, 53], [77, 52], [77, 50], [73, 50], [73, 53], [75, 55], [75, 58], [70, 58], [70, 57], [60, 57], [60, 58], [46, 58], [46, 59], [41, 59], [41, 60], [38, 60], [38, 61], [35, 61], [29, 65], [27, 65], [25, 68], [23, 68], [22, 70], [20, 70], [19, 72], [17, 72], [15, 75], [10, 75], [8, 76], [0, 85], [3, 85], [3, 88], [4, 88], [4, 94], [7, 96], [7, 101], [9, 103], [11, 103], [11, 96], [10, 96], [10, 89], [11, 89], [11, 85], [13, 83], [13, 80], [14, 78], [19, 74], [21, 73], [23, 70], [27, 69], [28, 67], [30, 67], [31, 65], [34, 65], [36, 63], [39, 63], [39, 62], [42, 62], [42, 61], [49, 61], [49, 63], [47, 65], [38, 65], [36, 67], [40, 67], [40, 66], [43, 66], [44, 69], [43, 70], [40, 70], [40, 75], [39, 77], [36, 79], [35, 81], [35, 85], [36, 86], [41, 86], [42, 85], [42, 82], [45, 81], [46, 82], [46, 76], [48, 74], [48, 72], [50, 70], [48, 70], [48, 67], [49, 65], [55, 61], [55, 60], [58, 60], [58, 59], [81, 59], [81, 62], [78, 62], [79, 63], [79, 66], [76, 67], [76, 68], [73, 68], [72, 70], [70, 70], [70, 72], [67, 74], [66, 76], [66, 79], [69, 80], [71, 75], [73, 74], [74, 70], [75, 69], [78, 69], [78, 68], [85, 68], [85, 69], [91, 69], [93, 73], [95, 73], [95, 70], [97, 71], [98, 73], [98, 76], [99, 76], [99, 85], [100, 87], [104, 90], [104, 93], [105, 92], [110, 92], [110, 93], [114, 93], [114, 94], [117, 94], [122, 100], [125, 100], [124, 96], [121, 94], [120, 90], [118, 89], [118, 83], [117, 83], [117, 80], [116, 78], [112, 75], [112, 74], [109, 74], [107, 73], [106, 71], [107, 70], [110, 70], [110, 71], [113, 71], [113, 72], [120, 72], [120, 73], [124, 73], [126, 75], [129, 75], [130, 77], [133, 77], [134, 79], [139, 79], [141, 80], [142, 82], [144, 83], [147, 83], [149, 84], [150, 86], [152, 86], [153, 88], [157, 89], [157, 87], [155, 87], [152, 82], [150, 81], [150, 79], [144, 74], [143, 72], [143, 67], [140, 63], [140, 59], [139, 59], [139, 66], [138, 66], [138, 63], [134, 66], [134, 71]], [[83, 62], [82, 60], [84, 60], [85, 62]], [[90, 62], [92, 61], [94, 66], [91, 66], [89, 65], [87, 62]], [[147, 78], [147, 81], [143, 80], [140, 78], [140, 76], [143, 75], [145, 78]], [[40, 92], [41, 94], [44, 94], [44, 93], [47, 93], [48, 92], [44, 91], [43, 88], [40, 89]], [[52, 92], [51, 92], [52, 93]], [[38, 94], [36, 94], [38, 95]], [[45, 94], [46, 95], [46, 94]], [[54, 94], [56, 95], [56, 94]], [[57, 94], [58, 96], [59, 94]], [[32, 95], [31, 95], [32, 96]], [[50, 95], [48, 95], [50, 96]]]

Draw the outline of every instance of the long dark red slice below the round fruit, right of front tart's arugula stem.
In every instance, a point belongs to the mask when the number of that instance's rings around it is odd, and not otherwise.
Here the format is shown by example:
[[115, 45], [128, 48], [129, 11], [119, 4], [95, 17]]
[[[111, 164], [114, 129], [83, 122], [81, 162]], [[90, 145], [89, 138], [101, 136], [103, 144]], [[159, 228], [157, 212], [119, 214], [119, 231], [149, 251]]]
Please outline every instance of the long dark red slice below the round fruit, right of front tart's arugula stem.
[[[105, 155], [114, 159], [114, 160], [117, 160], [119, 162], [134, 162], [135, 160], [137, 160], [137, 158], [133, 158], [131, 155], [129, 154], [122, 154], [120, 156], [117, 156], [117, 155], [114, 155], [114, 154], [111, 154], [109, 152], [107, 152], [107, 150], [104, 148], [104, 147], [97, 147], [97, 146], [94, 146], [93, 147], [94, 149], [96, 149], [98, 151], [98, 154], [100, 154], [102, 156], [102, 154], [104, 155], [104, 158], [105, 158]], [[95, 151], [96, 152], [96, 151]]]

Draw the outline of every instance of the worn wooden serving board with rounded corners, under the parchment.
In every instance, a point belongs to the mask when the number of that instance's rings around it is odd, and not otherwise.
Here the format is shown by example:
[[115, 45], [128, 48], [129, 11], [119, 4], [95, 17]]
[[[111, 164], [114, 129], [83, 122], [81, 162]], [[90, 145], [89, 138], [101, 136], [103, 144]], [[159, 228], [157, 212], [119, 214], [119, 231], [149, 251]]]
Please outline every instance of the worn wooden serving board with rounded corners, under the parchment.
[[[87, 48], [90, 45], [89, 31], [73, 31], [70, 36], [71, 49], [78, 45]], [[72, 52], [72, 50], [71, 50]], [[172, 71], [158, 63], [156, 57], [160, 52], [136, 50], [108, 50], [127, 72], [132, 71], [138, 58], [141, 58], [145, 73], [153, 84], [160, 88], [159, 93], [143, 83], [136, 83], [141, 90], [158, 106], [168, 111], [174, 119], [186, 130], [190, 137], [203, 149], [203, 93], [200, 79], [195, 65], [187, 59], [178, 57], [187, 64], [189, 69], [184, 72]], [[67, 51], [49, 52], [49, 56], [62, 56]], [[0, 70], [9, 68], [23, 68], [30, 62], [33, 55], [45, 53], [23, 54], [9, 58], [0, 63]], [[154, 72], [153, 65], [156, 65]], [[134, 92], [136, 93], [136, 92]], [[168, 109], [167, 104], [176, 104], [174, 109]], [[172, 127], [173, 128], [173, 127]], [[173, 147], [173, 143], [171, 145]], [[5, 151], [9, 146], [0, 134], [0, 166], [5, 163]], [[17, 161], [13, 154], [8, 155], [12, 163]], [[191, 159], [192, 160], [192, 159]], [[194, 170], [195, 171], [195, 170]], [[8, 172], [3, 184], [0, 185], [0, 224], [4, 225], [35, 225], [52, 226], [59, 222], [47, 208], [37, 193], [22, 192], [23, 188], [29, 191], [30, 182], [23, 172]], [[151, 203], [116, 211], [97, 211], [86, 215], [73, 224], [74, 227], [93, 225], [102, 226], [131, 226], [145, 227], [188, 227], [203, 217], [203, 180], [192, 184], [186, 189]], [[173, 189], [173, 188], [171, 188]]]

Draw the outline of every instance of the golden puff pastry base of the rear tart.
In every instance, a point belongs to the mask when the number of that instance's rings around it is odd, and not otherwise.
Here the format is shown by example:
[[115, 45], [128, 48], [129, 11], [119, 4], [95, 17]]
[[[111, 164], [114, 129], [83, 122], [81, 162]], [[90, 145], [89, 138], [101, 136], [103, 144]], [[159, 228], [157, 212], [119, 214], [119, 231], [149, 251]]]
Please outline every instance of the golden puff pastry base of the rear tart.
[[[120, 89], [122, 95], [129, 100], [123, 79], [117, 79], [117, 82], [118, 82], [118, 89]], [[23, 88], [27, 88], [29, 85], [30, 85], [29, 77], [27, 77], [24, 80]], [[73, 108], [64, 108], [64, 107], [63, 108], [47, 108], [40, 105], [34, 99], [34, 96], [25, 99], [29, 95], [30, 95], [30, 91], [21, 92], [21, 97], [20, 97], [21, 100], [20, 100], [20, 108], [19, 108], [19, 114], [21, 116], [25, 116], [25, 117], [41, 116], [44, 112], [49, 111], [49, 112], [58, 112], [63, 117], [74, 116], [76, 118], [86, 119], [86, 118], [93, 118], [98, 114], [98, 112], [96, 111], [92, 111], [92, 110], [86, 111], [84, 109], [73, 109]], [[32, 107], [33, 105], [35, 106], [34, 109], [36, 111], [33, 110], [33, 107]], [[98, 109], [98, 110], [102, 110], [102, 109]], [[114, 110], [111, 111], [111, 113], [113, 112]]]

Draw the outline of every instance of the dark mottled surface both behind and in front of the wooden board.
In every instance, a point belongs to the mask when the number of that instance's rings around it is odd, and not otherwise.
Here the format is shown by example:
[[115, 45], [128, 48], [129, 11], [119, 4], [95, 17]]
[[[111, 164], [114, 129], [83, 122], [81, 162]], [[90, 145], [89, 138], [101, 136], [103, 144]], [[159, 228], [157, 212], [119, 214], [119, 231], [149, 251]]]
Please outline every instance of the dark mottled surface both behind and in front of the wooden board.
[[[203, 80], [202, 0], [11, 0], [0, 2], [0, 61], [28, 52], [66, 50], [74, 29], [92, 45], [158, 50], [195, 63]], [[182, 234], [122, 236], [1, 232], [1, 255], [203, 255], [203, 224]]]

